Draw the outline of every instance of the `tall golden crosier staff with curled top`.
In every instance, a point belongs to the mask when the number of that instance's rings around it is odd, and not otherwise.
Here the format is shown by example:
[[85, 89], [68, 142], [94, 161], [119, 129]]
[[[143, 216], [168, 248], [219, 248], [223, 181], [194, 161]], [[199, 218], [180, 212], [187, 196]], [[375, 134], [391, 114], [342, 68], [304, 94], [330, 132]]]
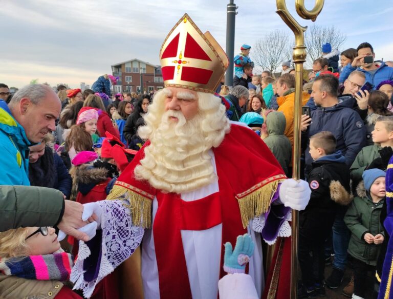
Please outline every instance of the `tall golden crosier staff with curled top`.
[[[295, 180], [300, 179], [300, 114], [303, 86], [303, 63], [307, 53], [304, 46], [304, 32], [307, 27], [300, 26], [299, 23], [289, 13], [285, 4], [286, 0], [276, 0], [277, 13], [295, 34], [295, 47], [293, 48], [293, 62], [295, 63], [295, 119], [294, 119], [294, 151], [293, 151], [293, 172]], [[323, 8], [324, 0], [316, 0], [312, 10], [304, 7], [304, 0], [295, 0], [296, 11], [303, 19], [311, 19], [315, 22], [318, 14]], [[292, 210], [292, 250], [291, 250], [291, 299], [297, 298], [297, 248], [298, 248], [298, 217], [299, 212]]]

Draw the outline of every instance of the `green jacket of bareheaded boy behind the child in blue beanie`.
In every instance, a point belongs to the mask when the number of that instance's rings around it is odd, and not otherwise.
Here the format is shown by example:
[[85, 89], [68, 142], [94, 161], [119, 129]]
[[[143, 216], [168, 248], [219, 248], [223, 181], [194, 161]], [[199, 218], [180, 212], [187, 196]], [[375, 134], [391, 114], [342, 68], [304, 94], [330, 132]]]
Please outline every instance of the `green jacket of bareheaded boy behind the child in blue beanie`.
[[382, 149], [380, 145], [370, 145], [362, 148], [357, 154], [354, 163], [350, 168], [353, 185], [356, 187], [362, 181], [362, 174], [366, 167], [370, 165], [376, 158], [380, 157], [379, 150]]

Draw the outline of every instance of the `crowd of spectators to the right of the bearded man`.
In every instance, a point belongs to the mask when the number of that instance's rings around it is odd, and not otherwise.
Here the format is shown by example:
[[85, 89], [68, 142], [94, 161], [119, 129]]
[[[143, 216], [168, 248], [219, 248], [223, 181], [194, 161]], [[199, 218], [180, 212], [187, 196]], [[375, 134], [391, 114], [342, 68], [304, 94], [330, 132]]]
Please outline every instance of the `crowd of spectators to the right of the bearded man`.
[[[310, 114], [301, 118], [301, 169], [312, 195], [300, 212], [300, 297], [322, 295], [324, 285], [339, 288], [348, 263], [353, 268], [352, 280], [343, 289], [348, 297], [371, 293], [367, 272], [377, 271], [381, 277], [389, 238], [383, 221], [385, 172], [393, 154], [393, 67], [374, 58], [369, 43], [341, 54], [326, 43], [303, 82], [302, 106], [309, 107]], [[252, 75], [252, 68], [245, 63], [244, 72], [234, 77], [235, 87], [227, 91], [222, 86], [217, 92], [234, 107], [231, 119], [260, 134], [291, 175], [294, 69], [283, 62], [275, 78], [270, 72]], [[255, 113], [260, 117], [251, 117]], [[324, 265], [331, 263], [331, 255], [333, 270], [325, 280]]]

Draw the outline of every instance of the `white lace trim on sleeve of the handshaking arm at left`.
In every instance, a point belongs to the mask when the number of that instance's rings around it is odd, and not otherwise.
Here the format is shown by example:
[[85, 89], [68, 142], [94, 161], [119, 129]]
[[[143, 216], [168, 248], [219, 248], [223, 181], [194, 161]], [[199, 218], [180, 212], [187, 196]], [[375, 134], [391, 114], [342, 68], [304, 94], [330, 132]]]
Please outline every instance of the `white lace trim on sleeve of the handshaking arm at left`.
[[74, 289], [83, 291], [89, 298], [96, 285], [106, 275], [112, 273], [117, 266], [125, 261], [141, 244], [143, 228], [132, 225], [129, 209], [123, 206], [123, 201], [101, 201], [102, 207], [102, 254], [98, 276], [91, 282], [84, 281], [83, 261], [90, 256], [89, 247], [79, 242], [78, 259], [71, 271], [70, 280], [75, 283]]

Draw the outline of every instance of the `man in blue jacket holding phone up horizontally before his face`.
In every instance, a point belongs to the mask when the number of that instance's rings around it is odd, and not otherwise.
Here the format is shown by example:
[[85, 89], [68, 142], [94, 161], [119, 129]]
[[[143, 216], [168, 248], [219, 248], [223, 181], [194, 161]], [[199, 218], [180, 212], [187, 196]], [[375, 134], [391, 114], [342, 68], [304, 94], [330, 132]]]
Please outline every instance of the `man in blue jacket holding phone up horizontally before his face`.
[[[387, 66], [383, 61], [374, 61], [375, 53], [372, 45], [362, 43], [356, 49], [358, 56], [352, 64], [347, 64], [340, 74], [340, 83], [343, 83], [348, 76], [355, 70], [361, 71], [366, 76], [366, 81], [377, 87], [382, 81], [393, 80], [393, 68]], [[373, 62], [365, 64], [364, 57], [372, 56]]]

